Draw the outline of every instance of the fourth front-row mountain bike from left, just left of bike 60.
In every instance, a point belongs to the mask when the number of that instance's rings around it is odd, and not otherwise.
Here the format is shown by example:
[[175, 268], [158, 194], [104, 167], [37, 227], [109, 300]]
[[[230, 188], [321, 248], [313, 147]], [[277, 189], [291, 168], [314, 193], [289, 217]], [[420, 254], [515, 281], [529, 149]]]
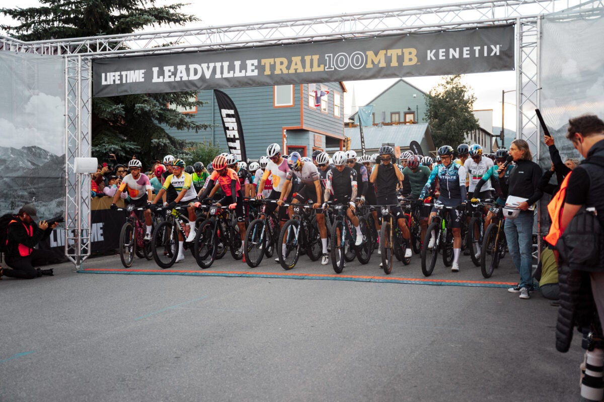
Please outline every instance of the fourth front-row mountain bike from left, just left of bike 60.
[[263, 256], [272, 257], [279, 234], [279, 220], [274, 213], [266, 213], [267, 203], [276, 203], [270, 199], [250, 199], [249, 204], [255, 207], [260, 218], [254, 219], [245, 232], [243, 254], [250, 268], [262, 262]]

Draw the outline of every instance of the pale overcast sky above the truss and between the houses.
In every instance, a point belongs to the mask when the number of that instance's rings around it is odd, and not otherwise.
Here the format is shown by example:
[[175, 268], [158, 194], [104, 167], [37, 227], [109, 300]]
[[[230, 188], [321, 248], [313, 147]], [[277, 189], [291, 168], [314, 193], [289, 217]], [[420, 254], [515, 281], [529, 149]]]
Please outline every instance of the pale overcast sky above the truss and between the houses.
[[[176, 1], [158, 0], [157, 4], [173, 3]], [[183, 1], [186, 2], [186, 1]], [[454, 4], [458, 1], [448, 0], [422, 0], [421, 4]], [[261, 22], [277, 19], [291, 19], [300, 17], [326, 16], [331, 14], [356, 13], [359, 11], [379, 11], [391, 10], [394, 8], [417, 7], [420, 2], [410, 0], [348, 0], [339, 1], [306, 1], [298, 2], [295, 7], [287, 7], [282, 0], [263, 0], [260, 3], [254, 3], [243, 0], [231, 0], [230, 2], [216, 1], [198, 1], [190, 0], [190, 5], [182, 9], [184, 13], [194, 14], [201, 19], [200, 22], [191, 25], [191, 27], [208, 27], [227, 24], [245, 24], [249, 22]], [[225, 5], [228, 4], [228, 6]], [[2, 7], [35, 7], [39, 5], [36, 0], [4, 0]], [[10, 19], [0, 14], [0, 21], [3, 24], [11, 24]], [[178, 28], [178, 27], [173, 27]], [[5, 33], [2, 33], [5, 34]], [[405, 78], [408, 82], [418, 87], [423, 92], [428, 92], [435, 84], [442, 80], [441, 77], [416, 77]], [[513, 90], [516, 74], [513, 71], [469, 74], [465, 75], [463, 82], [469, 85], [477, 101], [474, 108], [492, 109], [493, 125], [501, 125], [501, 91]], [[375, 96], [379, 95], [384, 89], [394, 83], [396, 79], [382, 79], [369, 81], [345, 81], [348, 93], [344, 96], [344, 111], [350, 113], [352, 105], [352, 96], [356, 98], [356, 105], [367, 104]], [[515, 130], [515, 92], [506, 94], [505, 119], [506, 127]], [[414, 109], [414, 105], [409, 105]], [[495, 133], [498, 134], [498, 133]]]

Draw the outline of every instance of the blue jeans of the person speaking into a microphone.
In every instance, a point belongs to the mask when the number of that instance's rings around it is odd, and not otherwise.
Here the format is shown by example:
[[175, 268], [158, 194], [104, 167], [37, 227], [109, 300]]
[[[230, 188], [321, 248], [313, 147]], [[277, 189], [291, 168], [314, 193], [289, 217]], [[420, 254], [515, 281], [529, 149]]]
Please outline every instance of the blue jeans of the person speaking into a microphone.
[[507, 248], [520, 274], [520, 287], [533, 286], [533, 211], [521, 211], [516, 219], [506, 219]]

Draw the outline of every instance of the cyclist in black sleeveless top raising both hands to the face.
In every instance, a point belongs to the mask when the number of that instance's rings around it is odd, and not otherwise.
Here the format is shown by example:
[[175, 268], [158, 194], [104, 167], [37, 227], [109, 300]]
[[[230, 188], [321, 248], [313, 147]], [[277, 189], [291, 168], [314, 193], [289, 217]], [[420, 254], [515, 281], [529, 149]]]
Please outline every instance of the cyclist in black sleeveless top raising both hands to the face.
[[[403, 173], [399, 168], [392, 163], [394, 160], [394, 150], [391, 146], [384, 145], [379, 149], [381, 165], [376, 165], [371, 171], [369, 181], [376, 185], [377, 205], [393, 205], [398, 204], [399, 200], [396, 195], [396, 186], [399, 181], [403, 181]], [[411, 233], [405, 222], [405, 215], [401, 207], [392, 207], [391, 212], [396, 218], [400, 231], [403, 234], [403, 239], [407, 240], [407, 246], [411, 245]], [[411, 257], [411, 248], [405, 250], [405, 258]]]

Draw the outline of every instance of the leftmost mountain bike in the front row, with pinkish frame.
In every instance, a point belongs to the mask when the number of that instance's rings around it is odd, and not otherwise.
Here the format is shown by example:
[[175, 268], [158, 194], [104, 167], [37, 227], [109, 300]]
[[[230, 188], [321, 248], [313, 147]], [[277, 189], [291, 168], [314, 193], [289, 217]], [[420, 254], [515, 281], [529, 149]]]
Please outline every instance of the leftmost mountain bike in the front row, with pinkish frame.
[[[153, 258], [151, 242], [144, 241], [146, 224], [138, 217], [137, 211], [144, 211], [147, 207], [135, 207], [128, 204], [125, 208], [128, 213], [126, 223], [120, 230], [120, 260], [121, 264], [130, 268], [135, 254], [138, 258]], [[118, 208], [123, 211], [124, 208]]]

